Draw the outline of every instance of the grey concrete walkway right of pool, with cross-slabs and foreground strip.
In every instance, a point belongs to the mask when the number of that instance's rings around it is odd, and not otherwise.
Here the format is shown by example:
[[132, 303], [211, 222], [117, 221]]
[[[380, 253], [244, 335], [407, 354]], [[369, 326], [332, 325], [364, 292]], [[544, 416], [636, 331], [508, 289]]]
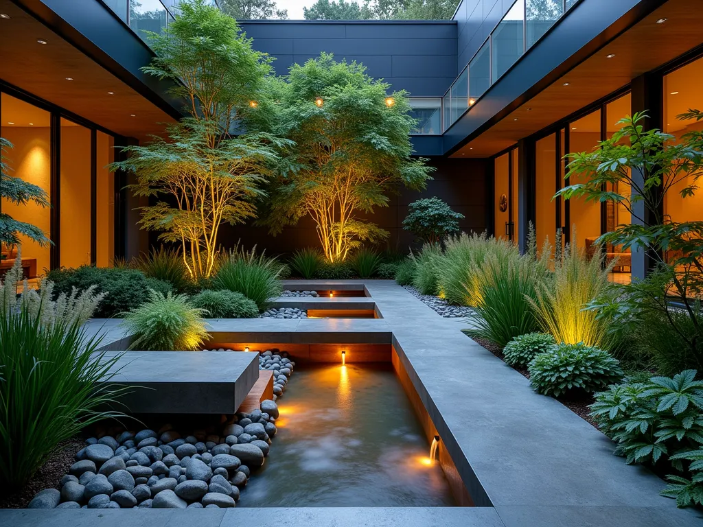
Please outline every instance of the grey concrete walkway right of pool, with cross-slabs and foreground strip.
[[[295, 287], [289, 288], [323, 289], [334, 285], [335, 289], [341, 289], [337, 283], [295, 281]], [[302, 342], [312, 338], [333, 341], [343, 337], [347, 341], [371, 343], [365, 339], [391, 339], [439, 431], [441, 448], [448, 449], [476, 505], [483, 507], [233, 509], [221, 517], [197, 516], [200, 525], [688, 527], [703, 524], [703, 512], [677, 509], [673, 500], [660, 497], [664, 481], [643, 467], [628, 466], [612, 455], [613, 445], [604, 435], [557, 401], [534, 393], [520, 373], [461, 333], [466, 325], [459, 320], [442, 318], [390, 280], [348, 283], [349, 287], [365, 284], [384, 318], [211, 320], [209, 323], [214, 332], [224, 334], [263, 333], [266, 337], [261, 337], [261, 342]], [[105, 331], [110, 338], [121, 338], [115, 325]], [[147, 520], [143, 518], [153, 512], [104, 511], [102, 517], [97, 511], [63, 511], [62, 516], [41, 511], [0, 512], [0, 523], [48, 527], [51, 522], [51, 527], [61, 524], [88, 527], [89, 521], [82, 516], [86, 513], [94, 520], [91, 527], [93, 523], [117, 527], [118, 521], [122, 527], [127, 518], [134, 519], [129, 525], [146, 526]], [[171, 514], [164, 520], [169, 526], [179, 526], [196, 517], [187, 511]], [[56, 521], [59, 517], [71, 521]], [[149, 521], [148, 525], [160, 526], [161, 521]]]

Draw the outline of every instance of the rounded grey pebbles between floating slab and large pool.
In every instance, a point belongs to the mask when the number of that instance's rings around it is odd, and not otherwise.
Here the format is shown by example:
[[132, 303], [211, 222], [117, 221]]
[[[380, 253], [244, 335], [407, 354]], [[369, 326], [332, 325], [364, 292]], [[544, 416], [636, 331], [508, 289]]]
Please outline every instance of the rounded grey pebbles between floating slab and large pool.
[[[212, 351], [227, 351], [224, 349]], [[272, 370], [273, 400], [257, 410], [224, 416], [216, 429], [112, 431], [70, 451], [56, 483], [42, 480], [30, 509], [185, 509], [235, 507], [252, 471], [262, 467], [276, 435], [278, 405], [295, 363], [288, 353], [259, 353], [259, 369]], [[45, 465], [40, 469], [51, 469]], [[46, 485], [52, 485], [46, 488]], [[37, 487], [32, 488], [32, 492]], [[30, 490], [25, 491], [25, 493]], [[26, 503], [26, 501], [25, 501]], [[22, 507], [15, 505], [15, 507]], [[9, 505], [12, 506], [12, 505]]]

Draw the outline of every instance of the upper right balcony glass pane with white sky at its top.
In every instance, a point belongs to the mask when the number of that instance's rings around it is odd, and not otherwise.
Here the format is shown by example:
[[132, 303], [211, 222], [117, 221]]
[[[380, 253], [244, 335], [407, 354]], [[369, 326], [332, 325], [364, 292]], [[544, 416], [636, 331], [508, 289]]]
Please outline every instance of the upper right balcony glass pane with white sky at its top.
[[491, 79], [496, 82], [524, 53], [524, 0], [517, 0], [491, 34]]

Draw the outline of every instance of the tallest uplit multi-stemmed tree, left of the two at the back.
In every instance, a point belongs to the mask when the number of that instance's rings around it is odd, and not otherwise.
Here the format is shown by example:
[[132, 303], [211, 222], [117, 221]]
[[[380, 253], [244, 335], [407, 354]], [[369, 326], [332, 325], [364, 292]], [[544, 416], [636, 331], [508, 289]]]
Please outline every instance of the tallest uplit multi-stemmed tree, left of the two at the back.
[[[264, 93], [269, 58], [252, 50], [235, 20], [204, 0], [183, 1], [162, 34], [151, 34], [156, 52], [143, 71], [174, 82], [172, 94], [186, 101], [190, 117], [131, 146], [115, 169], [132, 171], [138, 196], [155, 197], [141, 209], [142, 228], [181, 246], [193, 278], [209, 278], [223, 223], [256, 215], [254, 200], [290, 141], [254, 133], [266, 122]], [[233, 136], [246, 128], [249, 134]]]

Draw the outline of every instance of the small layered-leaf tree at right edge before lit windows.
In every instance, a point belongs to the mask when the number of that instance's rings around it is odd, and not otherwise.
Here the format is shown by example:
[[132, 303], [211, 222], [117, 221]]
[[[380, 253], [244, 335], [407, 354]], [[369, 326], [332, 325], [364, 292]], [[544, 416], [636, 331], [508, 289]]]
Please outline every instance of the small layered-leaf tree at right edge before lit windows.
[[[609, 325], [614, 332], [640, 323], [647, 314], [659, 315], [688, 347], [688, 360], [700, 370], [703, 221], [673, 221], [664, 213], [664, 200], [672, 191], [687, 198], [698, 190], [697, 181], [703, 176], [703, 132], [690, 131], [677, 139], [657, 129], [645, 130], [645, 117], [636, 113], [621, 119], [621, 128], [593, 151], [570, 155], [569, 174], [579, 174], [584, 182], [563, 188], [557, 196], [612, 201], [630, 212], [633, 223], [617, 226], [597, 242], [644, 250], [654, 259], [657, 272], [647, 280], [611, 287], [610, 294], [590, 307], [598, 316], [614, 320]], [[700, 121], [703, 112], [689, 110], [677, 117]]]

